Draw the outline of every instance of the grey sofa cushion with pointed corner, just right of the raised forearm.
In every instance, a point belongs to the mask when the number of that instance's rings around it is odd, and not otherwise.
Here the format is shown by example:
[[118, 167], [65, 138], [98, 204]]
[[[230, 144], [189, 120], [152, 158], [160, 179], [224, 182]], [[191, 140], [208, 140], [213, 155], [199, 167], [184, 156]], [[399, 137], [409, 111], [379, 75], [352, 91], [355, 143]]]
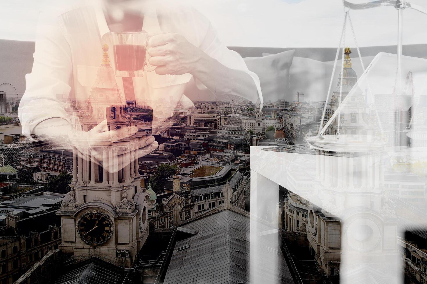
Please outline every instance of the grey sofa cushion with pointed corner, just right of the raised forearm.
[[248, 69], [260, 78], [265, 102], [286, 98], [289, 91], [289, 70], [295, 50], [263, 57], [246, 57]]

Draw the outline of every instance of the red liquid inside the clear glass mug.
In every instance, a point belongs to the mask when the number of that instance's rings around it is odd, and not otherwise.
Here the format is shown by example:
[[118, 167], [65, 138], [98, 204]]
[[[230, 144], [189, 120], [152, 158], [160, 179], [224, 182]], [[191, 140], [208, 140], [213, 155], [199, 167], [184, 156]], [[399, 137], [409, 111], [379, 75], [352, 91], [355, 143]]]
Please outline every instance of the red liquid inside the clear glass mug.
[[136, 44], [116, 44], [113, 49], [117, 70], [137, 71], [143, 69], [145, 62], [145, 46]]

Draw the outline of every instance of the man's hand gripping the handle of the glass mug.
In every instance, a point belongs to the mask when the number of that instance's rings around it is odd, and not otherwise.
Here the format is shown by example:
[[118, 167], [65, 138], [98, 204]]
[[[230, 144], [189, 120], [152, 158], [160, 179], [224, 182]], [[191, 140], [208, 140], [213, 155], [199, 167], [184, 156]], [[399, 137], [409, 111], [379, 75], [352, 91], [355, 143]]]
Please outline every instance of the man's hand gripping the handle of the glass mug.
[[193, 74], [202, 59], [208, 57], [184, 36], [174, 33], [150, 37], [147, 52], [149, 64], [157, 66], [155, 71], [159, 75]]

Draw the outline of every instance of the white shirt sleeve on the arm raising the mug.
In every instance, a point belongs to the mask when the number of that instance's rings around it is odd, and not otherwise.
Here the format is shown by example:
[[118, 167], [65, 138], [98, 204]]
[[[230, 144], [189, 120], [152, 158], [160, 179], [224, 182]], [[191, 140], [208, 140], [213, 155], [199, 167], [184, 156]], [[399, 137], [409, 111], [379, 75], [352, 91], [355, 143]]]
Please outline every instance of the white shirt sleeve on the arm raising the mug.
[[[260, 108], [262, 109], [263, 95], [261, 92], [260, 79], [258, 76], [248, 69], [248, 66], [246, 66], [246, 63], [240, 54], [234, 50], [228, 49], [227, 46], [225, 46], [225, 44], [219, 40], [216, 30], [213, 28], [209, 20], [206, 19], [206, 17], [200, 14], [199, 11], [194, 10], [194, 13], [196, 14], [195, 18], [199, 21], [199, 24], [195, 23], [195, 26], [205, 27], [204, 31], [197, 32], [199, 35], [202, 35], [199, 48], [210, 57], [218, 60], [224, 66], [230, 69], [241, 70], [249, 74], [254, 80], [255, 86], [257, 87]], [[200, 22], [203, 24], [200, 24]], [[196, 78], [194, 80], [198, 89], [207, 89], [206, 86], [203, 85], [199, 80]]]

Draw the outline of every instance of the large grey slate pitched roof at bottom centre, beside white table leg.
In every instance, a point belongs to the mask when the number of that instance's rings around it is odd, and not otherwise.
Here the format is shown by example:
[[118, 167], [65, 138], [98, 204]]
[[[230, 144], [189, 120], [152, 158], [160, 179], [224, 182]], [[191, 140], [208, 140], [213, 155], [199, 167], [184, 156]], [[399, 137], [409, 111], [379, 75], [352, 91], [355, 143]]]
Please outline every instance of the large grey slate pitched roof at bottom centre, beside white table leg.
[[[265, 230], [272, 229], [264, 221], [257, 220], [257, 226]], [[249, 284], [250, 221], [249, 213], [242, 215], [224, 208], [184, 224], [182, 227], [185, 229], [198, 233], [176, 242], [164, 284]], [[280, 268], [276, 273], [275, 269], [268, 265], [267, 260], [274, 252], [260, 255], [257, 262], [263, 266], [262, 277], [266, 279], [265, 283], [294, 283], [280, 248], [270, 244], [267, 238], [262, 242], [266, 248], [274, 247], [274, 250], [278, 251]], [[183, 247], [184, 249], [178, 251]]]

